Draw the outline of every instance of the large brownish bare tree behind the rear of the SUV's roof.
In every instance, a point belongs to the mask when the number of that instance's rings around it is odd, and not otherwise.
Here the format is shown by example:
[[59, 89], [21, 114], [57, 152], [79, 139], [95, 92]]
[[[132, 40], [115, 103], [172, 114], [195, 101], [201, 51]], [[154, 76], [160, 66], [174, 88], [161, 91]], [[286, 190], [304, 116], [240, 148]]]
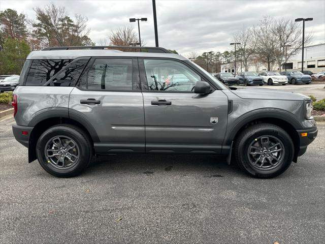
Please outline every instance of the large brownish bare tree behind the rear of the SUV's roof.
[[36, 7], [36, 21], [31, 23], [34, 36], [45, 45], [77, 46], [93, 45], [88, 37], [87, 18], [79, 14], [74, 20], [64, 7], [50, 3], [44, 9]]

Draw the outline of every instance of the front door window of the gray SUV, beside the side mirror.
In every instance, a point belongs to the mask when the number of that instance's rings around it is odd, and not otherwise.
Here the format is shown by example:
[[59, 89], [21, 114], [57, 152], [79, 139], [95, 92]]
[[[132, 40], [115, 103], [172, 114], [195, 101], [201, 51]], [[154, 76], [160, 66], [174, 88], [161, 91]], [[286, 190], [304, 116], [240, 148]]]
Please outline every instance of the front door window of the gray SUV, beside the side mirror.
[[164, 59], [144, 59], [148, 90], [159, 92], [193, 92], [200, 75], [180, 62]]

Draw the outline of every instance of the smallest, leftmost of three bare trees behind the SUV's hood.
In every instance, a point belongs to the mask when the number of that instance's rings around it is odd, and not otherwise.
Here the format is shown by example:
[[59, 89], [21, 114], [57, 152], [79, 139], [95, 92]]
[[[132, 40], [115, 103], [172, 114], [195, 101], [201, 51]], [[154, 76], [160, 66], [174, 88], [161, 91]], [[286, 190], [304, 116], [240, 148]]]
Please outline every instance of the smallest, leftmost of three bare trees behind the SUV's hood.
[[256, 40], [253, 38], [253, 32], [251, 28], [243, 28], [234, 36], [234, 41], [240, 43], [238, 52], [241, 55], [241, 60], [244, 64], [245, 71], [248, 71], [248, 61], [255, 52]]

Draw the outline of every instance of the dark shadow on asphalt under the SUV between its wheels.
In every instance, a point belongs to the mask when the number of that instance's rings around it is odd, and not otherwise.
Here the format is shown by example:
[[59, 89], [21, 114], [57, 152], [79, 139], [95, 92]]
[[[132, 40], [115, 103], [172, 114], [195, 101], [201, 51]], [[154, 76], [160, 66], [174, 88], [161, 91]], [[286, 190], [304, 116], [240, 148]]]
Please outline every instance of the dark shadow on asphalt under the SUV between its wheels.
[[226, 158], [207, 155], [114, 155], [96, 157], [83, 174], [202, 174], [204, 177], [245, 175]]

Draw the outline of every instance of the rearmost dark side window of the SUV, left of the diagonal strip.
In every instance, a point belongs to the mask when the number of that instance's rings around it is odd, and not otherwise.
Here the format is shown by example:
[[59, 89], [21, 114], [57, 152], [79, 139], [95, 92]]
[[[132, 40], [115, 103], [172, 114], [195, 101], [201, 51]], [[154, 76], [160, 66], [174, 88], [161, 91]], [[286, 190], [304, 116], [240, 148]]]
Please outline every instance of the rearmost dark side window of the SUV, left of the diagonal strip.
[[33, 60], [26, 79], [26, 85], [44, 85], [71, 61], [72, 59]]

